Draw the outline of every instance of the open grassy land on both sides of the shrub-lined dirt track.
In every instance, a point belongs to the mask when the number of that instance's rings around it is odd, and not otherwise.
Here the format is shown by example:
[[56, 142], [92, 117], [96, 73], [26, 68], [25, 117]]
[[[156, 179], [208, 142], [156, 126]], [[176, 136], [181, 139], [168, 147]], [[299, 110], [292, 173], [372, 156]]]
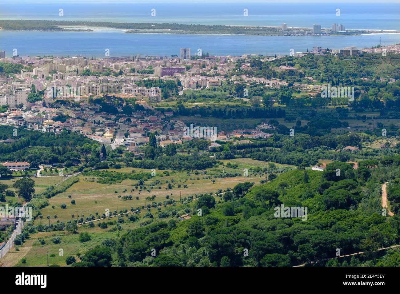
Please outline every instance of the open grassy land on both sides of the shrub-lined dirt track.
[[[195, 194], [206, 194], [212, 192], [213, 194], [218, 191], [218, 189], [225, 190], [226, 188], [233, 188], [236, 184], [240, 182], [254, 182], [256, 185], [259, 184], [261, 179], [264, 179], [264, 176], [261, 178], [260, 176], [239, 176], [235, 178], [213, 178], [215, 183], [212, 182], [211, 179], [204, 179], [206, 176], [216, 175], [222, 172], [224, 169], [225, 172], [241, 172], [242, 168], [250, 168], [256, 166], [266, 166], [266, 162], [261, 162], [258, 160], [252, 159], [236, 159], [236, 160], [224, 160], [224, 162], [231, 162], [238, 164], [239, 168], [227, 168], [226, 166], [218, 166], [216, 168], [206, 170], [207, 174], [187, 174], [187, 172], [173, 172], [168, 171], [168, 174], [165, 174], [165, 171], [156, 170], [156, 176], [150, 178], [145, 181], [145, 185], [150, 187], [149, 184], [154, 182], [155, 180], [160, 181], [168, 181], [174, 180], [174, 188], [166, 190], [165, 188], [168, 186], [165, 182], [160, 184], [161, 189], [158, 189], [159, 185], [154, 186], [154, 189], [148, 193], [146, 190], [140, 192], [135, 190], [131, 192], [131, 189], [134, 188], [132, 184], [136, 184], [137, 180], [124, 180], [121, 183], [116, 184], [100, 184], [97, 183], [97, 178], [95, 176], [85, 176], [80, 175], [80, 181], [74, 185], [72, 185], [65, 193], [58, 194], [53, 198], [49, 199], [50, 205], [46, 208], [42, 209], [42, 215], [44, 216], [43, 220], [37, 219], [34, 224], [38, 225], [39, 223], [48, 223], [46, 219], [47, 215], [50, 215], [50, 222], [56, 223], [57, 221], [68, 221], [72, 219], [72, 214], [74, 214], [74, 218], [77, 215], [80, 216], [82, 213], [82, 217], [85, 219], [86, 216], [90, 214], [95, 215], [98, 212], [100, 215], [106, 212], [108, 208], [111, 212], [114, 210], [120, 211], [127, 209], [130, 211], [130, 207], [138, 207], [149, 202], [146, 201], [147, 196], [156, 195], [154, 202], [163, 202], [166, 200], [166, 195], [170, 195], [170, 198], [174, 198], [175, 200], [180, 199], [180, 194], [182, 193], [182, 198], [195, 195]], [[279, 165], [283, 166], [283, 165]], [[150, 172], [150, 170], [145, 169], [135, 169], [136, 173], [138, 172]], [[109, 169], [108, 171], [115, 172], [132, 172], [132, 168], [121, 168], [121, 169]], [[38, 178], [38, 185], [44, 186], [46, 178]], [[49, 181], [47, 180], [47, 184]], [[181, 184], [181, 188], [178, 188], [178, 184]], [[183, 188], [183, 184], [187, 184], [187, 188]], [[127, 191], [124, 193], [123, 190]], [[117, 193], [115, 193], [117, 191]], [[172, 193], [172, 196], [171, 196]], [[68, 198], [68, 195], [71, 195], [72, 198]], [[132, 200], [122, 200], [118, 198], [118, 195], [132, 195]], [[136, 200], [135, 197], [138, 196], [139, 199]], [[215, 196], [216, 201], [220, 200], [220, 197]], [[76, 204], [71, 204], [70, 201], [75, 200]], [[151, 202], [151, 201], [150, 201]], [[67, 204], [66, 209], [60, 208], [62, 203]], [[52, 206], [54, 205], [54, 209]], [[177, 210], [180, 214], [183, 214], [183, 209], [187, 207], [186, 204], [178, 203], [176, 206], [168, 205], [167, 207], [161, 206], [161, 211], [164, 210]], [[157, 215], [156, 208], [151, 208], [152, 214], [154, 214], [154, 221], [168, 221], [172, 217], [159, 219]], [[140, 213], [140, 216], [143, 216], [147, 213], [147, 210]], [[54, 215], [57, 215], [57, 218], [54, 218]], [[116, 217], [111, 218], [111, 220], [116, 220]], [[124, 217], [126, 220], [126, 218]], [[177, 218], [173, 218], [178, 221]], [[105, 220], [100, 220], [101, 222]], [[137, 222], [124, 222], [121, 224], [121, 231], [118, 230], [110, 230], [114, 226], [109, 226], [108, 229], [100, 229], [97, 224], [98, 221], [95, 221], [94, 228], [89, 228], [87, 225], [78, 226], [78, 232], [88, 232], [92, 239], [88, 242], [80, 243], [78, 240], [78, 234], [73, 234], [71, 232], [66, 231], [57, 231], [57, 232], [39, 232], [35, 234], [31, 234], [30, 238], [24, 242], [22, 246], [19, 246], [19, 250], [16, 251], [15, 247], [10, 250], [10, 252], [1, 260], [0, 266], [46, 266], [47, 265], [47, 252], [49, 252], [49, 264], [58, 264], [60, 266], [66, 266], [65, 258], [69, 255], [75, 256], [77, 258], [77, 253], [84, 254], [88, 249], [93, 248], [94, 246], [101, 244], [101, 242], [106, 238], [117, 238], [120, 234], [125, 232], [126, 230], [130, 230], [132, 228], [138, 228], [139, 222], [142, 222], [143, 219], [140, 218]], [[52, 238], [54, 236], [58, 236], [61, 239], [60, 244], [54, 244], [52, 242]], [[45, 241], [44, 245], [41, 245], [38, 239], [43, 239]], [[60, 249], [63, 250], [63, 256], [59, 255]], [[21, 259], [25, 257], [26, 263], [22, 264]]]

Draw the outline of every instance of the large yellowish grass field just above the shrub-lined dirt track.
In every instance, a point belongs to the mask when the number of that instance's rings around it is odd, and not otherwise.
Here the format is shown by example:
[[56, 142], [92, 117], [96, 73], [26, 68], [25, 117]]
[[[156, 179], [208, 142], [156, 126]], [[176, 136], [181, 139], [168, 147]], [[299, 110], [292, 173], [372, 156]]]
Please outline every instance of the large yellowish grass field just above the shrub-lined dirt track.
[[[208, 194], [212, 192], [215, 194], [218, 189], [226, 190], [226, 188], [233, 188], [236, 184], [240, 182], [255, 182], [255, 184], [259, 184], [259, 181], [264, 178], [257, 177], [234, 177], [234, 178], [216, 178], [215, 183], [212, 182], [211, 179], [204, 179], [204, 177], [209, 176], [211, 174], [219, 174], [222, 173], [222, 169], [225, 168], [225, 172], [242, 172], [240, 169], [226, 168], [224, 166], [219, 166], [218, 168], [208, 169], [206, 175], [201, 174], [190, 174], [188, 175], [186, 172], [175, 172], [170, 171], [170, 175], [166, 176], [163, 174], [164, 171], [156, 170], [156, 176], [150, 178], [145, 181], [145, 186], [150, 188], [150, 183], [155, 180], [160, 181], [168, 181], [174, 180], [174, 187], [172, 189], [167, 189], [168, 184], [157, 184], [154, 188], [149, 192], [146, 190], [139, 191], [135, 189], [134, 192], [131, 192], [133, 188], [132, 185], [135, 185], [137, 180], [124, 180], [121, 183], [116, 184], [100, 184], [97, 183], [97, 179], [93, 176], [83, 176], [80, 175], [80, 181], [74, 185], [72, 185], [65, 193], [58, 194], [53, 198], [49, 199], [50, 205], [42, 209], [42, 215], [44, 218], [46, 216], [50, 216], [51, 223], [56, 222], [56, 220], [60, 221], [68, 221], [72, 219], [72, 214], [74, 214], [74, 218], [77, 215], [82, 213], [82, 217], [86, 218], [90, 214], [95, 215], [98, 212], [99, 215], [102, 215], [106, 212], [106, 209], [109, 209], [110, 212], [117, 210], [127, 209], [130, 210], [131, 207], [140, 207], [142, 205], [146, 206], [149, 204], [149, 201], [145, 198], [148, 196], [156, 195], [155, 200], [151, 202], [164, 202], [166, 200], [166, 195], [169, 195], [170, 198], [174, 200], [180, 200], [180, 196], [182, 198], [187, 196], [194, 196], [195, 194]], [[144, 169], [135, 169], [136, 172], [146, 171], [151, 172], [151, 170]], [[118, 170], [109, 169], [108, 171], [116, 171], [116, 172], [131, 172], [132, 168], [121, 168]], [[178, 188], [178, 184], [181, 185]], [[184, 184], [187, 185], [187, 188], [184, 188]], [[161, 186], [161, 189], [158, 188]], [[123, 192], [126, 189], [126, 192]], [[117, 193], [116, 193], [117, 192]], [[172, 195], [171, 195], [172, 193]], [[71, 198], [68, 198], [68, 195]], [[122, 198], [118, 198], [118, 195], [121, 197], [124, 195], [132, 195], [132, 200], [122, 200]], [[135, 199], [138, 196], [139, 199]], [[75, 200], [76, 204], [71, 204], [71, 200]], [[66, 209], [62, 209], [61, 204], [65, 203], [67, 205]], [[52, 208], [54, 206], [54, 209]], [[162, 206], [162, 210], [164, 207]], [[156, 213], [156, 208], [152, 208], [151, 212], [153, 214]], [[54, 215], [57, 218], [54, 218]], [[37, 224], [38, 220], [35, 221]]]

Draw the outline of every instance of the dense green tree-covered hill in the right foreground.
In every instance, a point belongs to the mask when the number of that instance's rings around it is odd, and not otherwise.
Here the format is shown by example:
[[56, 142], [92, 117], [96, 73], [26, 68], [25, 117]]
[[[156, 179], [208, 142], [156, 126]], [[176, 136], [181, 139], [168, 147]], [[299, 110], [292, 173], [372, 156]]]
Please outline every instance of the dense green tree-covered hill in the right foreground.
[[[251, 188], [244, 197], [235, 187], [232, 195], [224, 195], [215, 207], [213, 199], [202, 196], [194, 202], [194, 216], [190, 220], [178, 224], [174, 220], [157, 222], [123, 234], [116, 245], [118, 263], [294, 266], [322, 260], [318, 264], [324, 265], [324, 259], [334, 258], [338, 250], [341, 254], [373, 252], [374, 248], [396, 244], [394, 226], [384, 216], [360, 205], [362, 198], [371, 200], [376, 194], [365, 187], [360, 192], [358, 176], [331, 181], [321, 188], [318, 183], [322, 176], [322, 172], [308, 171], [304, 182], [304, 170], [292, 170]], [[291, 186], [290, 200], [286, 184]], [[307, 207], [308, 221], [274, 217], [274, 207], [282, 203]], [[196, 215], [199, 206], [203, 211], [208, 206], [209, 214]], [[155, 252], [156, 258], [150, 257], [151, 252]], [[364, 260], [353, 258], [351, 262], [359, 264], [370, 256], [365, 255]]]

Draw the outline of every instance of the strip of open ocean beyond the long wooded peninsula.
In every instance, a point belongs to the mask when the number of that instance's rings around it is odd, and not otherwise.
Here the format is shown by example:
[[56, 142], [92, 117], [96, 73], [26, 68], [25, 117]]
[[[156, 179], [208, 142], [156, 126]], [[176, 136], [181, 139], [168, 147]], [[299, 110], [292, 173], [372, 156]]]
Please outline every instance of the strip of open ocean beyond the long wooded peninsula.
[[[59, 16], [63, 9], [64, 16]], [[155, 9], [155, 16], [151, 10]], [[244, 16], [244, 9], [248, 16]], [[337, 16], [336, 9], [340, 9]], [[158, 22], [400, 30], [399, 4], [311, 3], [3, 3], [0, 19]]]

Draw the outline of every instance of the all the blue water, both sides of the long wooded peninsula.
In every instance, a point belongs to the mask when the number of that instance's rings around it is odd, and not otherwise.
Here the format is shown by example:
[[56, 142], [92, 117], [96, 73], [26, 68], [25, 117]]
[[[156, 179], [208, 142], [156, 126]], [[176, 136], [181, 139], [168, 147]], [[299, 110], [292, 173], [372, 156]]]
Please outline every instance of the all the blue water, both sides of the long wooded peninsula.
[[[16, 0], [18, 1], [18, 0]], [[76, 20], [107, 22], [169, 22], [182, 24], [226, 24], [312, 27], [332, 23], [347, 29], [400, 30], [400, 4], [271, 4], [271, 3], [6, 3], [0, 1], [0, 19]], [[323, 3], [323, 2], [322, 2]], [[63, 9], [64, 16], [59, 16]], [[151, 16], [155, 9], [155, 16]], [[248, 16], [243, 15], [247, 9]], [[336, 10], [340, 9], [340, 16]], [[192, 52], [201, 48], [212, 55], [240, 56], [289, 54], [311, 50], [313, 46], [340, 49], [400, 43], [400, 34], [362, 36], [237, 36], [184, 34], [127, 34], [122, 30], [95, 29], [92, 32], [0, 31], [0, 50], [11, 56], [76, 55], [88, 57], [135, 54], [169, 56], [180, 47]]]

